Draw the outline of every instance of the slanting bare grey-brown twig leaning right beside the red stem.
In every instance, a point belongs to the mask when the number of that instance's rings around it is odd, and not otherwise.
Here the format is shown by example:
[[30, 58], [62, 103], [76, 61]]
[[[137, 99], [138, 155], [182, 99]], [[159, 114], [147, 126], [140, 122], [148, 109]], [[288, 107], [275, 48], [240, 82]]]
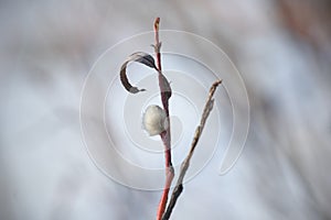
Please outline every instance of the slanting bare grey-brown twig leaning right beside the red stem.
[[190, 152], [186, 156], [186, 158], [183, 161], [182, 165], [181, 165], [181, 170], [180, 170], [180, 175], [179, 175], [179, 178], [177, 180], [177, 184], [175, 184], [175, 187], [172, 191], [172, 195], [171, 195], [171, 199], [169, 201], [169, 205], [167, 207], [167, 211], [164, 212], [163, 217], [162, 217], [162, 220], [168, 220], [171, 216], [171, 212], [175, 206], [175, 202], [178, 200], [178, 198], [180, 197], [180, 195], [182, 194], [183, 191], [183, 179], [184, 179], [184, 176], [186, 174], [186, 170], [190, 166], [190, 161], [193, 156], [193, 153], [194, 153], [194, 150], [195, 150], [195, 146], [199, 142], [199, 139], [201, 136], [201, 133], [203, 131], [203, 128], [204, 128], [204, 124], [206, 122], [206, 119], [209, 118], [212, 109], [213, 109], [213, 106], [214, 106], [214, 99], [213, 99], [213, 96], [215, 94], [215, 90], [217, 88], [217, 86], [222, 84], [222, 80], [217, 80], [215, 81], [211, 89], [210, 89], [210, 94], [209, 94], [209, 97], [207, 97], [207, 100], [206, 100], [206, 103], [204, 106], [204, 109], [203, 109], [203, 113], [202, 113], [202, 117], [201, 117], [201, 121], [200, 121], [200, 124], [197, 125], [197, 128], [195, 129], [195, 134], [194, 134], [194, 138], [193, 138], [193, 141], [192, 141], [192, 144], [191, 144], [191, 148], [190, 148]]

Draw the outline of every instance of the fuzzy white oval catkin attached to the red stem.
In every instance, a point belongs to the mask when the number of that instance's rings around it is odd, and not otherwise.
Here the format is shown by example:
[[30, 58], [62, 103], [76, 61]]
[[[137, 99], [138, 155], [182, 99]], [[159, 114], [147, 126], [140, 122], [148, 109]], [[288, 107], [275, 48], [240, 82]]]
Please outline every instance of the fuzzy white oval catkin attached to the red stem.
[[142, 128], [151, 136], [167, 130], [167, 114], [164, 110], [156, 105], [149, 106], [142, 116]]

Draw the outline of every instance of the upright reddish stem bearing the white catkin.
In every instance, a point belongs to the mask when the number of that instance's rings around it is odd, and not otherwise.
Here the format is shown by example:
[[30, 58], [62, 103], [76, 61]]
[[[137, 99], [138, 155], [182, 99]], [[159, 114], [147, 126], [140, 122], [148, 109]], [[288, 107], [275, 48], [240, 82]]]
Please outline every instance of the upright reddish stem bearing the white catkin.
[[[162, 142], [164, 144], [164, 158], [166, 158], [166, 184], [163, 188], [163, 194], [159, 204], [158, 213], [157, 213], [157, 220], [161, 220], [167, 201], [168, 201], [168, 194], [169, 189], [174, 176], [174, 170], [171, 163], [171, 135], [170, 135], [170, 119], [169, 119], [169, 98], [171, 96], [171, 88], [166, 86], [167, 78], [162, 75], [162, 67], [161, 67], [161, 53], [160, 47], [161, 43], [159, 40], [159, 24], [160, 24], [160, 18], [157, 18], [154, 21], [154, 34], [156, 34], [156, 45], [154, 51], [157, 54], [157, 68], [159, 72], [159, 86], [160, 86], [160, 92], [161, 92], [161, 101], [163, 109], [167, 114], [168, 120], [168, 128], [166, 131], [163, 131], [160, 136], [162, 139]], [[167, 81], [168, 82], [168, 81]]]

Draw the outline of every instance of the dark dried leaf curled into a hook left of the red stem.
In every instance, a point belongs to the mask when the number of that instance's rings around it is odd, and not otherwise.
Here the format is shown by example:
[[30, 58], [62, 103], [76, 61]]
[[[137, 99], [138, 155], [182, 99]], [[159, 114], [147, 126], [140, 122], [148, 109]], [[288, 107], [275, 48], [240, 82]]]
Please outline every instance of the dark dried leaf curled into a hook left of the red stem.
[[120, 81], [122, 86], [126, 88], [126, 90], [131, 94], [145, 91], [146, 89], [139, 89], [138, 87], [135, 87], [129, 82], [129, 79], [127, 77], [127, 65], [129, 62], [138, 62], [140, 64], [145, 64], [146, 66], [157, 69], [154, 58], [147, 53], [137, 52], [131, 54], [120, 67]]

